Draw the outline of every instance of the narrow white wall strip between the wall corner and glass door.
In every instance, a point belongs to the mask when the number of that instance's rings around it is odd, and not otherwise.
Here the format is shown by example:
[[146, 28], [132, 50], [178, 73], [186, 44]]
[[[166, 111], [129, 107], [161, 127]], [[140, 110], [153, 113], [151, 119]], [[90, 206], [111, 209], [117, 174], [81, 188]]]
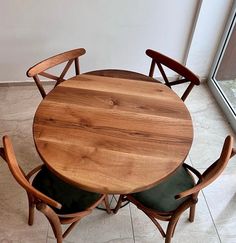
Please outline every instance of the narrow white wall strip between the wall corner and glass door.
[[233, 0], [203, 0], [189, 52], [187, 66], [207, 78]]

